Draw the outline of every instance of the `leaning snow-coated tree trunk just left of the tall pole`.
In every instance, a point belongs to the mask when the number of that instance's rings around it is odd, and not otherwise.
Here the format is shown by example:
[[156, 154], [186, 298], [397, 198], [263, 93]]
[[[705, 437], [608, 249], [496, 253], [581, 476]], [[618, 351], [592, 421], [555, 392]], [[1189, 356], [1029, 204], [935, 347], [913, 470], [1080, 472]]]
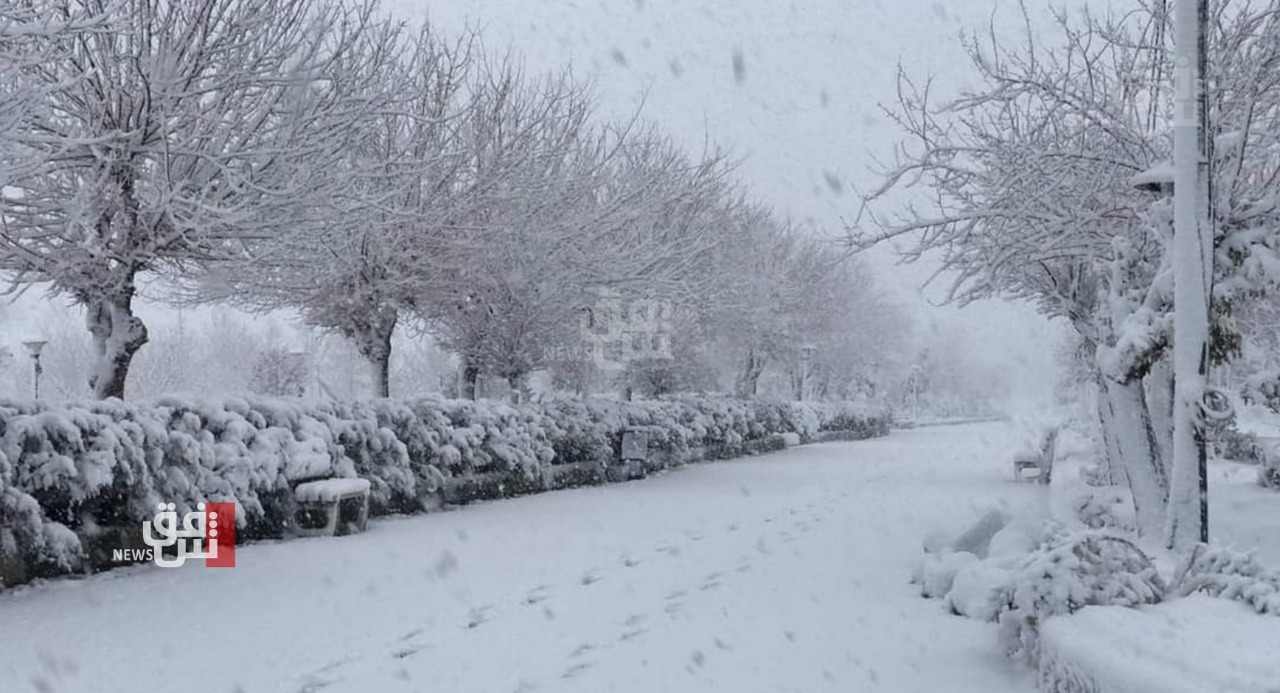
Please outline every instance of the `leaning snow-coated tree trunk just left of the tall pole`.
[[1111, 464], [1129, 483], [1138, 532], [1144, 537], [1160, 537], [1169, 502], [1169, 479], [1160, 459], [1142, 380], [1117, 383], [1103, 378], [1103, 406], [1110, 409], [1103, 421], [1111, 421], [1116, 455]]

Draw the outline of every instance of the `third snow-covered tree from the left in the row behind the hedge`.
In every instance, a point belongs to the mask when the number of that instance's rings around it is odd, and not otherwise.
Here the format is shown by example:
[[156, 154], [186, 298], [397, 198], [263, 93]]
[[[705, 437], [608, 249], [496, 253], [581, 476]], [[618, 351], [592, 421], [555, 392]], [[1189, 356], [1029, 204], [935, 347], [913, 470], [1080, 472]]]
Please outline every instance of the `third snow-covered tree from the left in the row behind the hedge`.
[[690, 159], [660, 135], [593, 120], [568, 74], [486, 65], [466, 123], [465, 222], [433, 254], [416, 310], [462, 361], [524, 388], [580, 352], [602, 292], [649, 301], [695, 293], [728, 186], [723, 158]]

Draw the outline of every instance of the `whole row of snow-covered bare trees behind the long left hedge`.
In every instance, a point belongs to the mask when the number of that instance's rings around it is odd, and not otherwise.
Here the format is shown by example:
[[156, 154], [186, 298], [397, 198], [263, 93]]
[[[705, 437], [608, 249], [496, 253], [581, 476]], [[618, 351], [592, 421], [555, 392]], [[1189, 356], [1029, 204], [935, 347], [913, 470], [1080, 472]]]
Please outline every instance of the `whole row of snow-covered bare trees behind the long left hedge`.
[[904, 360], [870, 275], [724, 152], [371, 0], [9, 4], [0, 96], [0, 272], [84, 309], [96, 397], [124, 396], [151, 341], [152, 279], [346, 337], [379, 396], [406, 329], [458, 359], [465, 397], [544, 369], [753, 395], [773, 369], [837, 398]]

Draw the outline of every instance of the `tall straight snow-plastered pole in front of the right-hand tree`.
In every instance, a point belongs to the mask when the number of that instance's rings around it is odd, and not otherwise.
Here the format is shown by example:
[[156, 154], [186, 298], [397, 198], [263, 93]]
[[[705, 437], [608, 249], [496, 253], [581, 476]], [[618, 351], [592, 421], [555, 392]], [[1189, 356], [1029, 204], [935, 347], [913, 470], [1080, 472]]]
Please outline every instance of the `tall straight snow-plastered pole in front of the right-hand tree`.
[[1207, 76], [1208, 0], [1174, 4], [1174, 460], [1165, 543], [1208, 541], [1201, 398], [1208, 374], [1213, 218]]

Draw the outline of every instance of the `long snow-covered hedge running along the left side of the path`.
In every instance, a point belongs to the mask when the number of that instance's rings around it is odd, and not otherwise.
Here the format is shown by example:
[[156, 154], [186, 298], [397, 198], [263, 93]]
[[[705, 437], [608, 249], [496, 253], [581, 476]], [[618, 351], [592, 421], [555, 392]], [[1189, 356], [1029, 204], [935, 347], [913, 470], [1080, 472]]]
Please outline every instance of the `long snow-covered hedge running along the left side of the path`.
[[122, 532], [140, 533], [161, 501], [180, 511], [236, 502], [239, 535], [278, 537], [292, 487], [308, 479], [369, 479], [372, 512], [415, 512], [436, 506], [445, 485], [467, 501], [599, 482], [626, 429], [646, 432], [668, 465], [762, 450], [783, 433], [865, 438], [888, 424], [864, 405], [712, 396], [0, 401], [0, 585], [102, 567], [100, 553], [119, 548]]

